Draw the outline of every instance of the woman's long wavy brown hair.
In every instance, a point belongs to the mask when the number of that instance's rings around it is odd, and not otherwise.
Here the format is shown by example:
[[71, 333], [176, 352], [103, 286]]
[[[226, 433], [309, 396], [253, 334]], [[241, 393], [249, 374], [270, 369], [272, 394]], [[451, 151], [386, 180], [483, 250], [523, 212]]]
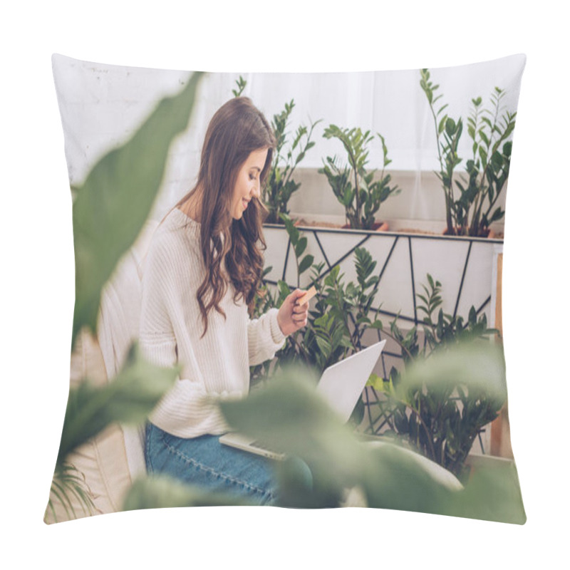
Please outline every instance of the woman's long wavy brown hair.
[[239, 169], [249, 154], [267, 148], [260, 175], [263, 187], [275, 145], [269, 123], [249, 98], [237, 97], [224, 103], [208, 125], [197, 183], [177, 204], [183, 204], [199, 190], [200, 249], [206, 269], [197, 291], [204, 323], [202, 336], [208, 329], [209, 311], [215, 309], [225, 317], [219, 303], [227, 292], [228, 280], [234, 288], [234, 302], [244, 299], [250, 311], [254, 305], [263, 271], [261, 252], [266, 248], [262, 231], [266, 209], [252, 199], [242, 218], [234, 220], [232, 195]]

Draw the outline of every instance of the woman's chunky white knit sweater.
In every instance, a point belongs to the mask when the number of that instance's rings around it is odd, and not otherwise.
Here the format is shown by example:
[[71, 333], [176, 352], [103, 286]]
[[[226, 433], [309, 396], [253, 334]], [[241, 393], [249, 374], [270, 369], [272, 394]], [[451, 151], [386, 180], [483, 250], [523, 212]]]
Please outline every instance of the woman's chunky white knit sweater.
[[249, 392], [249, 366], [272, 358], [285, 337], [277, 309], [250, 320], [232, 286], [208, 314], [204, 331], [196, 292], [204, 280], [199, 223], [172, 209], [157, 228], [142, 276], [140, 346], [158, 366], [182, 366], [175, 386], [160, 400], [150, 421], [178, 437], [227, 431], [217, 406], [206, 396], [241, 398]]

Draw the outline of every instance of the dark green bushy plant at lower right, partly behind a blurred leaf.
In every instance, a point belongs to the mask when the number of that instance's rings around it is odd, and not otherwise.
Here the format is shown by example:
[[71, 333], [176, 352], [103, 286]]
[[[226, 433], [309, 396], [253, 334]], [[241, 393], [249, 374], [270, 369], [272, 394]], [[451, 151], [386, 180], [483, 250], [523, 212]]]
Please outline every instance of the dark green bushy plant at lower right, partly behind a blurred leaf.
[[[428, 286], [418, 298], [423, 305], [418, 310], [425, 314], [422, 321], [424, 341], [420, 346], [417, 327], [405, 336], [396, 320], [390, 325], [392, 338], [403, 348], [403, 361], [418, 366], [439, 353], [447, 354], [451, 348], [481, 341], [498, 331], [487, 328], [484, 315], [477, 318], [475, 308], [470, 310], [464, 323], [462, 317], [445, 314], [442, 309], [441, 284], [427, 275]], [[437, 316], [436, 315], [437, 311]], [[490, 348], [489, 348], [490, 350]], [[385, 395], [378, 399], [380, 422], [376, 431], [405, 440], [426, 457], [439, 463], [455, 475], [465, 475], [465, 460], [475, 438], [484, 425], [497, 418], [504, 398], [486, 393], [477, 386], [462, 383], [468, 373], [458, 373], [455, 381], [438, 382], [424, 378], [421, 383], [404, 383], [402, 373], [390, 371], [388, 379], [372, 378], [370, 385]]]

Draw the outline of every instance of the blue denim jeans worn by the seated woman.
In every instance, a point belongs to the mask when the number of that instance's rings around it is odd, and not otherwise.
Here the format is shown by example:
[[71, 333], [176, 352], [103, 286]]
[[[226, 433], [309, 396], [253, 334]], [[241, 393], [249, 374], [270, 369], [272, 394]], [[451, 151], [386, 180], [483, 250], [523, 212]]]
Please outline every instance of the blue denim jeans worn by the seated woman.
[[222, 445], [217, 435], [176, 437], [147, 423], [145, 462], [151, 474], [165, 473], [205, 491], [255, 504], [276, 499], [272, 460]]

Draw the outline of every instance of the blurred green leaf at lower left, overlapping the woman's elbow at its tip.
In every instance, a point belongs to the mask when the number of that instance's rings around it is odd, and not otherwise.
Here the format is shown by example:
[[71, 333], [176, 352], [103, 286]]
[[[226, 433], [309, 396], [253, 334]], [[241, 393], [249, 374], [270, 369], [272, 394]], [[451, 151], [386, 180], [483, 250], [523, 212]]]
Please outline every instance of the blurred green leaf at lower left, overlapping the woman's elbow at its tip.
[[125, 365], [108, 385], [94, 386], [83, 380], [71, 388], [63, 420], [57, 464], [69, 452], [97, 435], [111, 423], [137, 424], [145, 421], [162, 395], [175, 383], [176, 368], [159, 368], [130, 348]]

